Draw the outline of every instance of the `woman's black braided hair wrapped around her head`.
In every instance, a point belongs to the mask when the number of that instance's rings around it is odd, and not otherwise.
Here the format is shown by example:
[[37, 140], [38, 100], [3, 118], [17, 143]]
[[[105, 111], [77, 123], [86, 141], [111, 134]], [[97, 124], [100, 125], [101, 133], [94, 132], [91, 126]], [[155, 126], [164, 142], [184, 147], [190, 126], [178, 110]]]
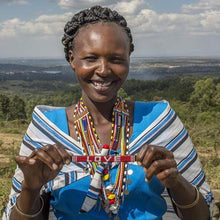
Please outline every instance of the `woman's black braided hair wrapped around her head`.
[[64, 52], [66, 60], [69, 62], [69, 50], [74, 49], [73, 41], [78, 34], [79, 29], [87, 24], [94, 24], [98, 22], [114, 22], [120, 25], [126, 32], [130, 41], [130, 53], [134, 51], [134, 44], [132, 43], [132, 35], [130, 28], [127, 27], [125, 18], [118, 14], [116, 11], [112, 11], [109, 8], [103, 8], [101, 6], [94, 6], [89, 9], [85, 9], [75, 14], [71, 21], [68, 21], [64, 27], [64, 36], [62, 38], [62, 44], [64, 45]]

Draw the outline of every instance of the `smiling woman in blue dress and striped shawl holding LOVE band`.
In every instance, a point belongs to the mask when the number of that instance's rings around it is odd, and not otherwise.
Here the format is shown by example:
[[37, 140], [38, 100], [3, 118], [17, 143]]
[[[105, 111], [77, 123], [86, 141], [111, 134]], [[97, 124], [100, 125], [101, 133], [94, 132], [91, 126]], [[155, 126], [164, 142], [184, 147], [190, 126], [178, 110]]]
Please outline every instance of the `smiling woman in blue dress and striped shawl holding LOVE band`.
[[[5, 219], [211, 218], [199, 159], [168, 103], [117, 97], [134, 47], [125, 19], [95, 6], [64, 31], [82, 98], [66, 109], [35, 108]], [[74, 162], [72, 155], [136, 155], [137, 163]]]

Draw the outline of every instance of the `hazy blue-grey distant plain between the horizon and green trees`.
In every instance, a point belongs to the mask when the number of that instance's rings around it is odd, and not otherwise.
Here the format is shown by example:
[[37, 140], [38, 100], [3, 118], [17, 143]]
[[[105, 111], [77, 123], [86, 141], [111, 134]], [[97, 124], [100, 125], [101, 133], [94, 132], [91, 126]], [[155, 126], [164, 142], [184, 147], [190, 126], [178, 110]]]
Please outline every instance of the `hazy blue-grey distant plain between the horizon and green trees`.
[[[158, 80], [187, 76], [219, 76], [220, 59], [214, 58], [132, 58], [128, 78]], [[49, 80], [76, 82], [64, 60], [0, 60], [0, 80]]]

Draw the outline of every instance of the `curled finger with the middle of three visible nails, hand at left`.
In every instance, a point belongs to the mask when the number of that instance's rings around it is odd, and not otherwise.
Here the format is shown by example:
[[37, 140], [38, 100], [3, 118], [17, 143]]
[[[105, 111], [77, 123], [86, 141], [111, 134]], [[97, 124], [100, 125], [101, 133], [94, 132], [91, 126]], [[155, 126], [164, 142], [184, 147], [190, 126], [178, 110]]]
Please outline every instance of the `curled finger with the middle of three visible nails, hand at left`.
[[34, 158], [39, 159], [41, 162], [45, 163], [50, 169], [57, 170], [58, 165], [54, 162], [53, 158], [41, 148], [35, 149]]

